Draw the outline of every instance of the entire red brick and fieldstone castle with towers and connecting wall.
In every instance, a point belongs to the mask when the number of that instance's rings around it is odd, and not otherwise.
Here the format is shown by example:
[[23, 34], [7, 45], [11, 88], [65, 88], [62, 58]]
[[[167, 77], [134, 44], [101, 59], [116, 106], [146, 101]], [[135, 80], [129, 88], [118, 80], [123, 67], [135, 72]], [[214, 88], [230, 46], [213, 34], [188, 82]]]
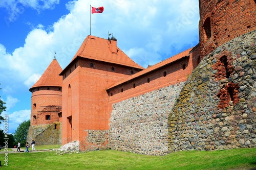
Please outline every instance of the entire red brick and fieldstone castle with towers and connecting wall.
[[[37, 144], [147, 155], [255, 147], [256, 2], [199, 1], [199, 44], [148, 68], [88, 35], [30, 88]], [[246, 106], [245, 106], [246, 104]]]

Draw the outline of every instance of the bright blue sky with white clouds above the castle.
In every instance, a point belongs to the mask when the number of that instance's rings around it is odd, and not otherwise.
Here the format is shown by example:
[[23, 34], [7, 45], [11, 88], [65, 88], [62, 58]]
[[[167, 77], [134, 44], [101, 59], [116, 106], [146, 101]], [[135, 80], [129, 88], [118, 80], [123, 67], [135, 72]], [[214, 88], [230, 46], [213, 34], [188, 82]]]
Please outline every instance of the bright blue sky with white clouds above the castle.
[[[64, 69], [90, 34], [117, 39], [117, 46], [143, 67], [199, 42], [198, 0], [1, 0], [0, 96], [9, 133], [30, 118], [29, 88], [56, 59]], [[0, 126], [3, 129], [3, 124]]]

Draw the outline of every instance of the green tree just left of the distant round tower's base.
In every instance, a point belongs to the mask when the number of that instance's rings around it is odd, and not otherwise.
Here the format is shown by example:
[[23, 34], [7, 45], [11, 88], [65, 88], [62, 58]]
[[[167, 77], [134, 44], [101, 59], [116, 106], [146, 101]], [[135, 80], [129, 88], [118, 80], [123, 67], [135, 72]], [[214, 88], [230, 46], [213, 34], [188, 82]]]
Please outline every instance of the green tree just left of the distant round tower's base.
[[29, 126], [30, 126], [30, 120], [25, 120], [15, 130], [13, 133], [13, 137], [15, 141], [20, 141], [20, 144], [24, 144], [27, 142], [27, 136], [28, 136], [28, 131], [29, 131]]

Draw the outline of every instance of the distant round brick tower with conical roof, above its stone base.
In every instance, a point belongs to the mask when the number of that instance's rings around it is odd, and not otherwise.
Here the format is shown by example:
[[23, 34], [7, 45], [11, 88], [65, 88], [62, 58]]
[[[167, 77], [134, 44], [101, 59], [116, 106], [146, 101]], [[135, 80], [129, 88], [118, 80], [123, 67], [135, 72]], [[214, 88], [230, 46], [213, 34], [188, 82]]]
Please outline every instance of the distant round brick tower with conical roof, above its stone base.
[[59, 122], [61, 111], [62, 71], [54, 59], [40, 79], [29, 89], [31, 97], [31, 125], [45, 125]]

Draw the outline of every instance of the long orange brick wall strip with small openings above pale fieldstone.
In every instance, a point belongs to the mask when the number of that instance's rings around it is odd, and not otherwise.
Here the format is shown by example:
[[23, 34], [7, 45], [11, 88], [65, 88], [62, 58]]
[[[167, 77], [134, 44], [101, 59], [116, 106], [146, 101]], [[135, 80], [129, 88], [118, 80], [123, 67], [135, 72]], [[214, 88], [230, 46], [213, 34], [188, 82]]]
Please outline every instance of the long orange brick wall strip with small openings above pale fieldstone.
[[[135, 78], [129, 82], [125, 82], [109, 89], [109, 111], [111, 112], [111, 106], [113, 103], [117, 103], [122, 100], [132, 98], [133, 96], [138, 96], [165, 86], [186, 81], [193, 69], [198, 65], [198, 58], [199, 48], [195, 47], [188, 57], [184, 57], [171, 64], [160, 67], [157, 70], [148, 72], [139, 78]], [[183, 65], [185, 65], [185, 69], [183, 69]], [[166, 75], [164, 75], [164, 72]]]

